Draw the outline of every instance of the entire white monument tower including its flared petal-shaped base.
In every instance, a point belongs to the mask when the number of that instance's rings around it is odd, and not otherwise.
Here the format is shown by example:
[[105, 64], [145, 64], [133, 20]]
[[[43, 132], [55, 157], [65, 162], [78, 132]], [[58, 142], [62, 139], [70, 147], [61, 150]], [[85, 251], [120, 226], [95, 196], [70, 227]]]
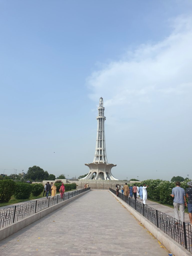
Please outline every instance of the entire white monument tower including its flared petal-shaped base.
[[106, 148], [105, 148], [105, 128], [104, 122], [106, 117], [104, 116], [104, 106], [103, 106], [103, 98], [101, 97], [99, 100], [98, 107], [98, 116], [97, 116], [97, 139], [96, 139], [96, 147], [95, 147], [95, 156], [93, 159], [93, 163], [85, 164], [89, 167], [90, 171], [88, 175], [82, 179], [92, 179], [92, 176], [95, 175], [94, 179], [110, 179], [110, 180], [118, 180], [111, 174], [111, 168], [116, 166], [114, 164], [108, 164]]

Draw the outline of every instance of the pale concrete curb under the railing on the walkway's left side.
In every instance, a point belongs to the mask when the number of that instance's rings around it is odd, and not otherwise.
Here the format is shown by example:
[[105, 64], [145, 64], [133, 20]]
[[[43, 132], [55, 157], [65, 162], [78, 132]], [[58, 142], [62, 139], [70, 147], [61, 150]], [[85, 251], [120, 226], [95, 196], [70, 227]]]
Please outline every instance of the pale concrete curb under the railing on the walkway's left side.
[[20, 220], [18, 222], [15, 222], [5, 228], [0, 229], [0, 241], [3, 240], [4, 238], [16, 233], [18, 230], [25, 228], [26, 226], [30, 225], [31, 223], [35, 222], [36, 220], [39, 220], [40, 218], [46, 216], [47, 214], [59, 209], [60, 207], [68, 204], [69, 202], [77, 199], [78, 197], [86, 194], [87, 192], [89, 192], [90, 190], [87, 190], [79, 195], [73, 196], [57, 205], [51, 206], [49, 208], [46, 208], [40, 212], [37, 212], [34, 215], [31, 215], [23, 220]]

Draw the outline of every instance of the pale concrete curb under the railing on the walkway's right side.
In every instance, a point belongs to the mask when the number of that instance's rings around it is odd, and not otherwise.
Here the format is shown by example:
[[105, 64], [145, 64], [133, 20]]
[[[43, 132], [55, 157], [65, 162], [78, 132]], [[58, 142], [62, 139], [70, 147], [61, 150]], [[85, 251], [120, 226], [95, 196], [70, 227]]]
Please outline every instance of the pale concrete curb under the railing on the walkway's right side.
[[145, 217], [143, 217], [140, 213], [135, 211], [131, 206], [126, 204], [122, 199], [117, 197], [111, 191], [109, 191], [122, 205], [126, 207], [128, 211], [132, 213], [132, 215], [141, 222], [145, 228], [150, 231], [159, 242], [161, 242], [167, 250], [173, 253], [175, 256], [191, 256], [192, 254], [187, 251], [183, 246], [179, 243], [175, 242], [171, 237], [165, 234], [161, 229], [157, 228], [153, 223], [148, 221]]

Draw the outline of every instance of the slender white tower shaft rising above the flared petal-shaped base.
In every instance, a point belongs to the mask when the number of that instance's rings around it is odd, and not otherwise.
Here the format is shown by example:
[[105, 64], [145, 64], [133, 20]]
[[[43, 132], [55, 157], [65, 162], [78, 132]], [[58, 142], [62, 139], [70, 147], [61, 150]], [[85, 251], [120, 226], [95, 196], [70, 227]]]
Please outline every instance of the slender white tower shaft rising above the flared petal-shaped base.
[[106, 149], [105, 149], [105, 126], [104, 122], [106, 117], [104, 116], [104, 106], [103, 106], [103, 98], [101, 97], [99, 100], [98, 107], [98, 116], [97, 116], [97, 139], [96, 139], [96, 147], [95, 147], [95, 156], [93, 159], [93, 163], [99, 164], [104, 163], [108, 164]]

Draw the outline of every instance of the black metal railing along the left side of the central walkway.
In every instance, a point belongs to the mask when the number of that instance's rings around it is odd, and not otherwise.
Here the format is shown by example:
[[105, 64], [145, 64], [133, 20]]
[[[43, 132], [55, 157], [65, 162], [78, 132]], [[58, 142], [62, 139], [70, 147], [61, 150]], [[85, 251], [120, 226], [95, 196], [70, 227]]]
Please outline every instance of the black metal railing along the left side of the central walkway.
[[28, 216], [31, 216], [39, 211], [49, 208], [53, 205], [59, 204], [62, 201], [65, 201], [71, 197], [77, 196], [89, 189], [90, 187], [78, 189], [64, 193], [63, 197], [61, 197], [60, 195], [56, 195], [54, 197], [49, 196], [48, 199], [45, 197], [24, 204], [0, 209], [0, 229], [19, 220], [22, 220]]

